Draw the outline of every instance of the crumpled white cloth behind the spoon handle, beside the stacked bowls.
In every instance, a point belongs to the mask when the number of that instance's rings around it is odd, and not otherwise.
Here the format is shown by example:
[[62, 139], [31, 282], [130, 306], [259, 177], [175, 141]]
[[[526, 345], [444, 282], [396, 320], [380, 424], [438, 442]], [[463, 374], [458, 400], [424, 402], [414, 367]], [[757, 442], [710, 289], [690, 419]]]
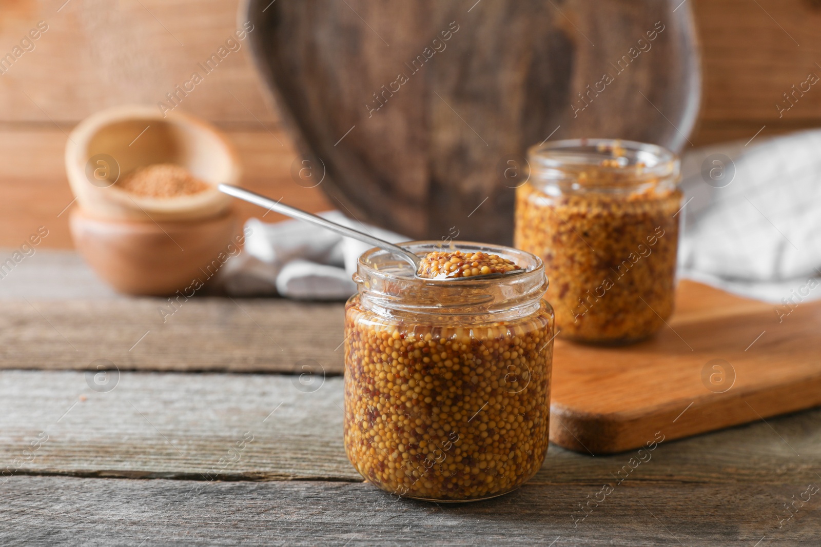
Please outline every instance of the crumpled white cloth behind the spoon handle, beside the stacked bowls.
[[[338, 211], [319, 213], [330, 221], [391, 243], [403, 235], [351, 221]], [[245, 222], [245, 248], [226, 262], [222, 288], [235, 296], [279, 294], [289, 299], [343, 300], [356, 292], [356, 259], [371, 245], [303, 221]]]

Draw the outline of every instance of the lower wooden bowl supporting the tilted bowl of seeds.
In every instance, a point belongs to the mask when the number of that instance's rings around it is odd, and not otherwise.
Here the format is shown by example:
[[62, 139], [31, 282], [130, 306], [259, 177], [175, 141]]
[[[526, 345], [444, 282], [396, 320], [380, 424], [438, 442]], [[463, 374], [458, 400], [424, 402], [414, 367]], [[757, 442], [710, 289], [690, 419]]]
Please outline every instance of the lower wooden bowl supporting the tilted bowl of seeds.
[[111, 220], [78, 207], [71, 212], [71, 237], [80, 255], [125, 294], [163, 296], [177, 290], [190, 297], [237, 253], [236, 213], [197, 221]]

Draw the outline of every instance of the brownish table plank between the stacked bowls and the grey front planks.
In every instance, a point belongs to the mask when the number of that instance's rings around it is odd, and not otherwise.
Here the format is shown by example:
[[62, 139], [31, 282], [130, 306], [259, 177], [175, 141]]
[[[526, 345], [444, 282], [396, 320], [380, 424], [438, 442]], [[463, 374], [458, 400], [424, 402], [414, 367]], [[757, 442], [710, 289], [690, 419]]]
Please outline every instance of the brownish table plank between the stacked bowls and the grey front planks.
[[104, 358], [121, 370], [294, 372], [313, 359], [342, 372], [342, 303], [195, 297], [175, 312], [161, 298], [25, 298], [3, 303], [0, 368], [85, 370]]

